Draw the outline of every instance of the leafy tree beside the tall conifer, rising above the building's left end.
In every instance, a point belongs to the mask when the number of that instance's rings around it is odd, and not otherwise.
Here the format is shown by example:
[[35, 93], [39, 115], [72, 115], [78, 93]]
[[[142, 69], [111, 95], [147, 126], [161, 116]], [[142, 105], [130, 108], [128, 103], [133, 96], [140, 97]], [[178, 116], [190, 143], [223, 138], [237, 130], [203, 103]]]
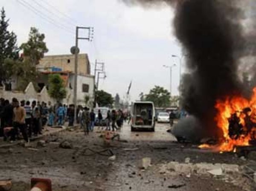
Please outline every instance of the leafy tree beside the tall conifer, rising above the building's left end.
[[20, 46], [20, 49], [23, 49], [24, 59], [29, 59], [34, 65], [39, 64], [40, 59], [48, 52], [44, 38], [45, 35], [39, 33], [38, 29], [30, 28], [29, 40]]

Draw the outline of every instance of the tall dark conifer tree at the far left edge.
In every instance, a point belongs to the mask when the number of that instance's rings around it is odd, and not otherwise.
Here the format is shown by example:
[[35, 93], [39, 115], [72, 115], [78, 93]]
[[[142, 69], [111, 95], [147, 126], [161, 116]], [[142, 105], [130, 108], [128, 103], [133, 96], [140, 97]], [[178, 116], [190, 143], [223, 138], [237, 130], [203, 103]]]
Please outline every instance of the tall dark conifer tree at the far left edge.
[[10, 78], [10, 65], [6, 67], [5, 61], [17, 60], [19, 58], [19, 49], [17, 48], [17, 36], [14, 32], [8, 31], [9, 19], [6, 20], [5, 10], [1, 10], [0, 18], [0, 86]]

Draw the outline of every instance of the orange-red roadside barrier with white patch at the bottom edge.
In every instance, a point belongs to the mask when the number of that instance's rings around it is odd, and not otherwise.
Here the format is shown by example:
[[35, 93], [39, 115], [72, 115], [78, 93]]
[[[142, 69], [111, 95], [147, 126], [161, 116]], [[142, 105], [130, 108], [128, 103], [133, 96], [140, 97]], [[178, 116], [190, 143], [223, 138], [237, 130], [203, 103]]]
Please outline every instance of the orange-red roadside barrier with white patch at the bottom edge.
[[32, 178], [30, 191], [52, 191], [52, 181], [45, 178]]

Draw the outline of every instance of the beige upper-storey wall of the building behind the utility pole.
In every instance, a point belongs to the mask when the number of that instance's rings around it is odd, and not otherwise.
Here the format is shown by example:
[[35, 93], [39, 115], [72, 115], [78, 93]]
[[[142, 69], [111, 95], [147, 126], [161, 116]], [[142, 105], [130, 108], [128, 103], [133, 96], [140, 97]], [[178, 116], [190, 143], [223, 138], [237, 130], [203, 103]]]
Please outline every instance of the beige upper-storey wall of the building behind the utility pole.
[[[47, 70], [47, 68], [50, 67], [58, 67], [63, 71], [75, 72], [75, 55], [44, 56], [37, 67], [41, 70]], [[90, 62], [87, 54], [78, 55], [78, 74], [90, 75]]]

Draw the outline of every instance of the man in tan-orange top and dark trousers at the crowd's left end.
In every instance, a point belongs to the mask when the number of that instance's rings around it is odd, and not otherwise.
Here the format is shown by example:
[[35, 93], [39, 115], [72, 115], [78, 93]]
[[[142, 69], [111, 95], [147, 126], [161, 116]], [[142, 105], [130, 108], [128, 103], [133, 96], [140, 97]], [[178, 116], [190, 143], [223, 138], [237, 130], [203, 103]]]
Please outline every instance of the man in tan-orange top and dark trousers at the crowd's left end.
[[26, 125], [25, 125], [25, 118], [26, 118], [26, 111], [24, 107], [19, 105], [19, 101], [16, 98], [13, 98], [13, 113], [14, 113], [14, 131], [12, 133], [12, 141], [15, 141], [15, 136], [18, 133], [18, 129], [22, 133], [23, 139], [26, 142], [29, 142], [27, 133], [26, 133]]

